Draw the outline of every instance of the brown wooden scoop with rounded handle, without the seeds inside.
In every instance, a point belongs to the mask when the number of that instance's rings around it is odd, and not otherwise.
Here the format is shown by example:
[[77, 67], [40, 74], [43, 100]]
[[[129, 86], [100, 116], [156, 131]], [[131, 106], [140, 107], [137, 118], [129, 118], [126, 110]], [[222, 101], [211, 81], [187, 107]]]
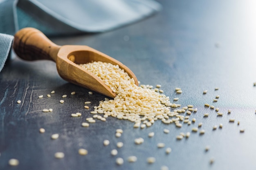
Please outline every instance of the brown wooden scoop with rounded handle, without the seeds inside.
[[13, 49], [25, 60], [52, 60], [56, 62], [58, 74], [66, 81], [115, 98], [116, 94], [103, 81], [77, 64], [102, 61], [119, 65], [138, 85], [133, 72], [121, 62], [88, 46], [58, 46], [35, 28], [23, 28], [14, 36]]

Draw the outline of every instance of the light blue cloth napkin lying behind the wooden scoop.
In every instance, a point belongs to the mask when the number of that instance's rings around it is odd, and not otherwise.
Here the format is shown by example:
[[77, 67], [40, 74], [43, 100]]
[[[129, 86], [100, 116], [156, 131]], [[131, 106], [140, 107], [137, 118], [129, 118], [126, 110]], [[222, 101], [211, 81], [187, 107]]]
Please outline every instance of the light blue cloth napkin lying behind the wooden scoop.
[[[141, 20], [161, 9], [154, 0], [0, 0], [0, 33], [34, 27], [51, 35], [97, 33]], [[0, 35], [0, 71], [13, 37]]]

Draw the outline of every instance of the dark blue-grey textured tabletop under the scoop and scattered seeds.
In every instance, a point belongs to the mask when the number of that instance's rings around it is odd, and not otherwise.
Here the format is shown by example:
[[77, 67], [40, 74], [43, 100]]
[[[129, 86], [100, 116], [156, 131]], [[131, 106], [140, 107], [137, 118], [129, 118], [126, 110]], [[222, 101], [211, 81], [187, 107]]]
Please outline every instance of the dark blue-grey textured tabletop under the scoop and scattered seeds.
[[[254, 170], [256, 168], [256, 3], [253, 0], [159, 0], [163, 9], [157, 15], [113, 31], [92, 35], [51, 38], [59, 45], [88, 45], [127, 65], [141, 84], [161, 84], [166, 96], [178, 97], [175, 103], [194, 105], [198, 109], [190, 126], [182, 122], [134, 129], [133, 123], [109, 117], [97, 120], [90, 127], [81, 126], [90, 111], [106, 96], [89, 95], [88, 89], [62, 80], [52, 61], [27, 62], [18, 58], [9, 62], [0, 73], [0, 169], [19, 170]], [[182, 88], [182, 94], [175, 93]], [[219, 87], [215, 90], [215, 87]], [[204, 90], [207, 94], [203, 94]], [[50, 98], [46, 95], [55, 90]], [[75, 95], [70, 93], [75, 91]], [[59, 100], [67, 94], [65, 102]], [[44, 95], [43, 98], [38, 96]], [[213, 98], [220, 95], [218, 102]], [[17, 104], [17, 100], [21, 100]], [[90, 109], [84, 102], [91, 101]], [[223, 116], [209, 103], [220, 108]], [[52, 112], [43, 109], [52, 108]], [[231, 113], [228, 114], [228, 109]], [[173, 109], [172, 109], [173, 110]], [[78, 118], [71, 113], [81, 112]], [[209, 117], [204, 117], [209, 113]], [[185, 116], [183, 113], [182, 115]], [[235, 122], [229, 122], [229, 119]], [[238, 125], [238, 121], [240, 124]], [[202, 122], [204, 135], [191, 129]], [[213, 130], [214, 125], [222, 129]], [[39, 133], [44, 128], [45, 133]], [[115, 137], [116, 129], [123, 129]], [[170, 133], [164, 133], [169, 129]], [[244, 129], [244, 133], [240, 133]], [[149, 132], [155, 136], [148, 137]], [[188, 139], [177, 140], [181, 132], [191, 132]], [[60, 137], [51, 139], [58, 133]], [[144, 143], [136, 145], [134, 139]], [[110, 141], [103, 146], [103, 140]], [[117, 142], [124, 142], [117, 148]], [[164, 148], [157, 148], [158, 143]], [[206, 152], [205, 147], [210, 146]], [[170, 154], [165, 153], [172, 148]], [[88, 155], [78, 154], [79, 148]], [[117, 148], [116, 156], [110, 155]], [[63, 159], [54, 153], [63, 152]], [[137, 161], [129, 163], [135, 155]], [[124, 164], [115, 163], [117, 157]], [[155, 157], [148, 164], [147, 157]], [[11, 167], [9, 159], [20, 164]], [[214, 159], [213, 163], [210, 160]]]

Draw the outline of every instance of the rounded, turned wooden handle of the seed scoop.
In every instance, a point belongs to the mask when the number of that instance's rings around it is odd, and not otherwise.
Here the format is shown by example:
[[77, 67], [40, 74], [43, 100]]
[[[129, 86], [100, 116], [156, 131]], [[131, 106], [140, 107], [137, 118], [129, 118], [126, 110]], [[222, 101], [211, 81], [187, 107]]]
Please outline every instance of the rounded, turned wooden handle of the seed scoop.
[[50, 41], [36, 28], [23, 28], [14, 35], [13, 49], [27, 61], [52, 60], [56, 62], [61, 46]]

